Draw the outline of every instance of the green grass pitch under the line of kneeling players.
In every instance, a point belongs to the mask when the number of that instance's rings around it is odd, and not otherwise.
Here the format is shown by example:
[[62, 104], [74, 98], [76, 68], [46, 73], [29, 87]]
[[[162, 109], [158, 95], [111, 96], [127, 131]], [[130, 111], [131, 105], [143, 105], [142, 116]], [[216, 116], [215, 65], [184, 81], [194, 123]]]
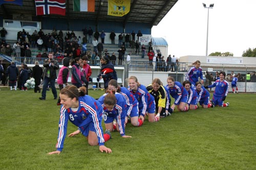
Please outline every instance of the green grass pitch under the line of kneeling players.
[[[33, 90], [0, 89], [0, 169], [256, 169], [255, 94], [228, 94], [227, 108], [127, 124], [132, 138], [113, 132], [105, 143], [111, 154], [79, 134], [66, 138], [60, 155], [47, 155], [55, 151], [59, 121], [51, 91], [40, 101]], [[102, 93], [89, 91], [94, 98]], [[68, 134], [75, 130], [69, 122]]]

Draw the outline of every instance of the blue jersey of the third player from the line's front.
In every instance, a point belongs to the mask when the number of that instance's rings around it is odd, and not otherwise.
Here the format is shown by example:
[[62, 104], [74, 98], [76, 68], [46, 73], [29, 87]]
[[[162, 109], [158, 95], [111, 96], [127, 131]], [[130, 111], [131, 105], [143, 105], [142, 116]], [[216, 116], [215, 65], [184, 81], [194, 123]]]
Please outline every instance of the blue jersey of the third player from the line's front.
[[[121, 91], [120, 93], [124, 96], [124, 99], [126, 101], [127, 104], [127, 116], [130, 116], [131, 112], [136, 112], [135, 114], [138, 114], [138, 101], [137, 99], [134, 98], [133, 94], [127, 90], [127, 88], [125, 87], [121, 87], [120, 88]], [[136, 111], [137, 110], [137, 111]], [[134, 115], [134, 113], [133, 113]]]

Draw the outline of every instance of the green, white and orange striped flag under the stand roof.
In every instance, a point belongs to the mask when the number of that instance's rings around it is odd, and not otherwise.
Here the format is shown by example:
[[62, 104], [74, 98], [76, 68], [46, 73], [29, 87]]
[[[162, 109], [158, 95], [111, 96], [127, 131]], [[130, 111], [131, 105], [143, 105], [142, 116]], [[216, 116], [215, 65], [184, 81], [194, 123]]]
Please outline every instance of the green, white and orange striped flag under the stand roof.
[[95, 0], [74, 0], [74, 11], [94, 12]]

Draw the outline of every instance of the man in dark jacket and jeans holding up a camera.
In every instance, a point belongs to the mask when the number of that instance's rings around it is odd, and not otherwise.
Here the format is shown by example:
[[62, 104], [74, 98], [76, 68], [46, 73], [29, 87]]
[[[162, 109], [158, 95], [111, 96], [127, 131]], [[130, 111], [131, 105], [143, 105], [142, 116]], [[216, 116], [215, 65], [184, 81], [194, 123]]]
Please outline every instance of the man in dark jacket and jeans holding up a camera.
[[57, 99], [57, 90], [55, 88], [55, 80], [57, 79], [57, 74], [56, 70], [59, 69], [59, 64], [57, 60], [53, 59], [53, 53], [50, 52], [48, 55], [47, 60], [44, 62], [44, 73], [42, 74], [42, 80], [43, 80], [43, 85], [42, 85], [42, 96], [39, 98], [40, 100], [46, 100], [46, 91], [48, 84], [51, 84], [51, 89], [53, 93], [54, 99]]

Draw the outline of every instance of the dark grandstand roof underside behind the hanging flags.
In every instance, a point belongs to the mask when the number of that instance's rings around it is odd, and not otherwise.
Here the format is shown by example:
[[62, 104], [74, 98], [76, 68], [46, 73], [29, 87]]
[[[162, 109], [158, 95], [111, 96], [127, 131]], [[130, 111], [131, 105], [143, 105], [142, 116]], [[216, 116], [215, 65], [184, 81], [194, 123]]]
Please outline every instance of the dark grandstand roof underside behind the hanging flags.
[[[73, 11], [73, 0], [67, 0], [66, 16], [49, 15], [49, 17], [90, 19], [95, 20], [96, 23], [100, 20], [118, 21], [122, 22], [123, 26], [127, 22], [144, 22], [152, 28], [158, 25], [177, 2], [178, 0], [131, 0], [130, 12], [125, 16], [118, 17], [108, 15], [108, 0], [95, 0], [95, 12], [75, 12]], [[34, 0], [23, 0], [23, 6], [2, 4], [0, 9], [0, 15], [4, 16], [4, 19], [13, 19], [13, 14], [31, 16], [31, 18], [36, 16]], [[41, 16], [36, 17], [37, 21], [41, 20]]]

